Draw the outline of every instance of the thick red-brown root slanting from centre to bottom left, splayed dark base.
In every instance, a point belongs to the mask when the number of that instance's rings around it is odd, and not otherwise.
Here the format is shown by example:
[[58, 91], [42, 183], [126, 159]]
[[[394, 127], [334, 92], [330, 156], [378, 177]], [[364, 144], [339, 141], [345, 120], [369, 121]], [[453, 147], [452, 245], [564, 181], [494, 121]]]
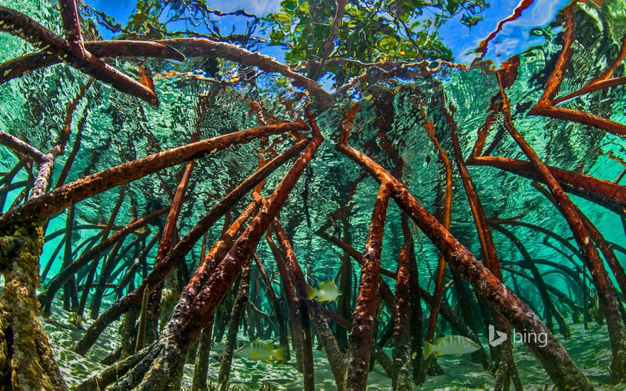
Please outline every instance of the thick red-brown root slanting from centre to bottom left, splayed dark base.
[[197, 280], [204, 278], [194, 275], [181, 294], [169, 323], [161, 332], [161, 338], [153, 344], [153, 346], [163, 348], [159, 355], [147, 365], [137, 365], [129, 370], [124, 377], [117, 380], [115, 385], [112, 385], [112, 390], [129, 390], [132, 387], [137, 387], [139, 390], [179, 389], [189, 349], [197, 341], [200, 331], [210, 323], [218, 304], [235, 281], [238, 270], [252, 255], [263, 232], [267, 230], [282, 208], [297, 179], [309, 164], [321, 142], [322, 136], [319, 132], [314, 132], [314, 137], [309, 141], [307, 148], [300, 154], [226, 257], [215, 267], [206, 284], [198, 287]]

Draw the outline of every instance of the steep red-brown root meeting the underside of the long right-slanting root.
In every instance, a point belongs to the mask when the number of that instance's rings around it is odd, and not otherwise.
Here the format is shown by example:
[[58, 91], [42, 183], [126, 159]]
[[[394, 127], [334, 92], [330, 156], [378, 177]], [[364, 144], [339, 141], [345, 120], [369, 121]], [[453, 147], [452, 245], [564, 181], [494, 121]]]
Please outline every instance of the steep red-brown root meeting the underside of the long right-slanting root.
[[369, 358], [373, 346], [372, 327], [378, 307], [378, 281], [389, 193], [386, 183], [383, 183], [376, 197], [365, 245], [359, 297], [356, 299], [352, 330], [349, 335], [346, 390], [364, 390], [367, 385]]

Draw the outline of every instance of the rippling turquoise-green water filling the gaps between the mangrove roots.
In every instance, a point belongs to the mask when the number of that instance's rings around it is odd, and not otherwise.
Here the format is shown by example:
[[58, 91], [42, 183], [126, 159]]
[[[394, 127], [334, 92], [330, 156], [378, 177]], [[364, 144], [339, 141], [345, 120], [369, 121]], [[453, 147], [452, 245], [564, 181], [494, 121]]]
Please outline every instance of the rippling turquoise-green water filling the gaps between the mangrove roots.
[[[546, 3], [550, 2], [542, 4]], [[61, 33], [58, 10], [47, 2], [3, 0], [1, 4], [19, 9], [53, 32]], [[577, 4], [574, 9], [575, 50], [559, 96], [578, 90], [586, 82], [600, 75], [619, 53], [620, 40], [626, 34], [626, 3], [623, 0], [602, 1], [600, 6], [590, 1], [588, 4]], [[536, 7], [534, 11], [540, 12], [541, 9]], [[506, 91], [511, 100], [514, 123], [546, 164], [606, 181], [616, 181], [626, 165], [623, 163], [626, 160], [626, 142], [623, 137], [575, 122], [533, 117], [528, 114], [529, 109], [541, 97], [546, 78], [551, 73], [554, 60], [561, 50], [561, 36], [558, 33], [561, 30], [558, 27], [562, 22], [563, 17], [559, 14], [556, 21], [550, 25], [555, 31], [553, 36], [539, 41], [536, 45], [524, 46], [523, 53], [510, 53], [519, 54], [520, 63], [516, 80]], [[531, 27], [546, 28], [546, 26]], [[499, 41], [500, 45], [506, 45], [504, 38]], [[32, 45], [24, 43], [21, 39], [0, 33], [0, 62], [32, 50]], [[195, 77], [168, 76], [173, 70], [182, 73], [196, 68], [208, 68], [203, 60], [188, 60], [182, 64], [162, 60], [145, 61], [154, 71], [155, 90], [161, 101], [159, 107], [146, 105], [137, 98], [113, 89], [110, 85], [94, 82], [74, 112], [70, 141], [65, 154], [59, 156], [55, 163], [53, 183], [68, 159], [69, 150], [77, 134], [77, 124], [83, 117], [85, 120], [81, 145], [75, 163], [70, 169], [66, 181], [68, 183], [117, 164], [187, 144], [196, 130], [199, 139], [206, 139], [239, 129], [256, 127], [258, 119], [250, 113], [251, 100], [262, 102], [267, 112], [277, 119], [293, 120], [295, 117], [302, 117], [304, 95], [297, 87], [285, 81], [284, 77], [262, 74], [256, 79], [255, 85], [246, 83], [228, 85], [226, 82], [219, 84]], [[117, 59], [115, 65], [132, 77], [138, 78], [137, 63], [133, 60]], [[237, 65], [227, 61], [219, 66], [223, 74], [237, 70]], [[622, 63], [617, 67], [614, 76], [623, 77], [624, 73], [625, 65]], [[292, 240], [295, 254], [302, 269], [307, 272], [310, 283], [317, 285], [319, 282], [336, 277], [343, 255], [337, 247], [315, 235], [319, 227], [328, 227], [326, 232], [329, 235], [334, 230], [336, 232], [347, 230], [352, 247], [359, 251], [365, 247], [378, 183], [368, 176], [362, 177], [361, 168], [334, 149], [344, 112], [356, 100], [360, 101], [361, 108], [354, 119], [349, 144], [364, 151], [390, 171], [393, 171], [394, 165], [400, 159], [403, 164], [399, 175], [401, 181], [430, 213], [435, 215], [440, 213], [445, 171], [433, 143], [423, 128], [420, 102], [425, 102], [425, 114], [428, 119], [433, 120], [435, 134], [450, 156], [452, 156], [450, 129], [440, 110], [440, 97], [445, 96], [446, 105], [456, 108], [454, 119], [458, 127], [460, 146], [463, 156], [467, 157], [477, 140], [477, 129], [482, 127], [487, 119], [489, 104], [498, 92], [498, 83], [494, 73], [481, 68], [472, 70], [447, 68], [445, 72], [435, 76], [440, 80], [441, 89], [423, 78], [407, 80], [398, 77], [398, 80], [388, 82], [383, 77], [380, 79], [373, 77], [367, 87], [361, 85], [350, 90], [349, 94], [337, 99], [330, 109], [317, 115], [319, 128], [326, 141], [320, 146], [280, 214], [281, 223]], [[86, 81], [85, 74], [60, 64], [1, 84], [0, 129], [28, 141], [41, 151], [47, 151], [62, 128], [68, 102], [75, 97], [80, 85]], [[208, 103], [206, 109], [199, 112], [199, 103], [203, 99]], [[297, 115], [282, 104], [285, 100], [295, 102]], [[626, 124], [624, 85], [591, 92], [564, 103], [563, 107], [593, 112], [600, 117]], [[385, 124], [384, 140], [380, 136], [381, 122]], [[500, 115], [495, 118], [494, 125], [489, 129], [486, 145], [492, 144], [498, 132], [502, 130]], [[398, 158], [388, 153], [386, 142], [397, 152]], [[277, 139], [274, 149], [280, 153], [291, 145], [291, 139]], [[257, 151], [261, 147], [260, 142], [255, 141], [218, 151], [210, 158], [198, 160], [179, 218], [177, 230], [181, 236], [189, 232], [206, 210], [212, 208], [223, 195], [258, 168]], [[491, 154], [526, 159], [506, 132]], [[0, 171], [3, 172], [3, 176], [17, 162], [15, 154], [0, 146]], [[141, 217], [169, 205], [171, 193], [176, 190], [182, 170], [181, 166], [166, 168], [158, 174], [149, 175], [125, 186], [124, 202], [115, 219], [114, 230], [129, 223], [135, 215]], [[469, 170], [488, 218], [515, 218], [544, 227], [575, 247], [566, 220], [544, 195], [531, 186], [529, 179], [498, 168], [470, 166]], [[36, 174], [35, 169], [33, 172]], [[287, 167], [281, 167], [272, 173], [265, 182], [262, 195], [268, 197], [286, 172]], [[30, 180], [28, 172], [21, 170], [13, 182]], [[623, 180], [620, 183], [623, 183]], [[18, 188], [8, 193], [3, 211], [9, 209], [20, 191], [21, 188]], [[81, 201], [76, 208], [75, 223], [106, 224], [118, 195], [119, 189], [114, 188]], [[575, 195], [571, 195], [571, 199], [593, 221], [605, 239], [615, 244], [618, 261], [622, 266], [626, 264], [626, 252], [623, 250], [623, 247], [626, 247], [625, 228], [622, 226], [620, 215]], [[248, 202], [246, 198], [235, 209], [240, 210]], [[48, 224], [46, 235], [63, 230], [65, 220], [65, 211], [54, 216]], [[382, 267], [392, 271], [396, 270], [398, 252], [403, 245], [400, 221], [400, 209], [395, 203], [390, 203], [381, 263]], [[145, 240], [157, 235], [162, 225], [162, 221], [149, 225]], [[505, 226], [521, 240], [533, 259], [556, 262], [568, 270], [573, 270], [574, 265], [580, 267], [582, 264], [580, 257], [576, 251], [571, 250], [571, 247], [564, 246], [539, 230], [516, 225]], [[209, 245], [218, 240], [222, 227], [223, 219], [211, 228], [208, 233]], [[450, 232], [474, 255], [481, 254], [472, 213], [456, 167], [453, 176]], [[413, 233], [420, 286], [432, 292], [438, 252], [418, 228], [414, 227]], [[77, 247], [92, 235], [94, 230], [75, 230], [72, 237], [73, 247]], [[135, 236], [129, 235], [122, 248], [134, 239]], [[63, 235], [58, 235], [46, 241], [43, 247], [41, 269], [51, 262], [46, 279], [42, 281], [44, 287], [62, 266], [63, 251], [54, 259], [52, 257], [54, 250], [63, 240]], [[499, 232], [494, 232], [494, 242], [502, 264], [519, 270], [514, 264], [522, 257], [515, 245]], [[147, 255], [148, 269], [154, 264], [157, 247], [155, 246]], [[275, 276], [277, 266], [265, 240], [258, 245], [257, 253], [265, 264], [267, 273]], [[116, 277], [111, 283], [119, 282], [125, 268], [129, 267], [136, 256], [137, 251], [133, 249], [122, 259], [123, 262], [116, 265]], [[201, 242], [198, 242], [186, 257], [188, 267], [198, 264], [200, 257]], [[583, 306], [583, 290], [568, 274], [558, 272], [545, 264], [538, 264], [538, 267], [548, 286], [556, 287], [578, 305]], [[355, 262], [351, 276], [355, 290], [353, 300], [360, 272], [361, 269]], [[529, 274], [527, 270], [524, 272]], [[85, 270], [82, 273], [81, 277]], [[573, 274], [580, 278], [578, 272]], [[138, 273], [134, 277], [134, 284], [138, 285], [143, 277], [142, 273]], [[449, 282], [450, 279], [448, 272], [445, 282]], [[393, 289], [393, 279], [383, 277], [383, 280]], [[612, 281], [615, 283], [614, 279]], [[529, 303], [536, 314], [544, 316], [545, 309], [534, 282], [515, 277], [505, 270], [504, 284], [514, 288], [515, 293]], [[275, 281], [276, 291], [280, 291], [279, 286]], [[271, 312], [272, 309], [262, 289], [256, 291], [256, 294], [257, 296], [253, 298], [256, 304], [264, 311]], [[115, 299], [117, 295], [112, 290], [107, 290], [104, 306], [109, 306]], [[445, 300], [457, 314], [460, 313], [453, 289], [446, 289]], [[624, 385], [608, 385], [611, 352], [606, 326], [591, 320], [588, 329], [585, 330], [582, 322], [573, 321], [568, 306], [559, 303], [556, 298], [554, 300], [570, 325], [572, 333], [570, 338], [562, 338], [559, 335], [559, 341], [568, 350], [578, 368], [583, 370], [598, 389], [626, 390]], [[50, 337], [61, 373], [68, 385], [73, 386], [106, 368], [99, 361], [119, 346], [120, 336], [117, 330], [120, 328], [120, 321], [112, 323], [87, 357], [83, 357], [71, 350], [83, 335], [83, 331], [68, 325], [69, 314], [60, 308], [60, 302], [57, 299], [53, 304], [53, 322], [44, 318], [41, 318], [41, 321]], [[334, 304], [328, 304], [327, 307], [336, 309]], [[423, 308], [426, 324], [429, 307], [423, 304]], [[378, 314], [379, 332], [383, 331], [384, 325], [389, 321], [391, 311], [384, 309]], [[88, 319], [85, 328], [91, 322], [92, 320]], [[455, 331], [450, 330], [447, 323], [441, 322], [438, 334], [450, 333]], [[487, 336], [480, 337], [486, 347]], [[240, 331], [240, 340], [248, 340], [243, 329]], [[391, 356], [391, 348], [385, 348], [385, 351]], [[215, 355], [219, 356], [218, 353], [215, 352]], [[314, 358], [315, 378], [319, 390], [334, 390], [336, 385], [324, 352], [314, 351]], [[514, 344], [514, 358], [527, 390], [543, 390], [546, 385], [551, 385], [540, 363], [523, 344]], [[302, 387], [302, 375], [297, 372], [293, 361], [292, 359], [291, 363], [280, 364], [235, 358], [230, 382], [240, 390], [256, 390], [260, 382], [267, 382], [279, 389], [297, 390]], [[494, 377], [486, 373], [479, 364], [472, 363], [469, 355], [444, 356], [438, 359], [438, 363], [445, 374], [429, 376], [422, 389], [486, 390], [494, 385]], [[218, 360], [211, 358], [209, 369], [211, 380], [216, 380], [218, 370]], [[193, 365], [186, 365], [184, 387], [191, 385], [192, 377]], [[371, 390], [391, 389], [391, 379], [378, 364], [369, 374], [368, 384]]]

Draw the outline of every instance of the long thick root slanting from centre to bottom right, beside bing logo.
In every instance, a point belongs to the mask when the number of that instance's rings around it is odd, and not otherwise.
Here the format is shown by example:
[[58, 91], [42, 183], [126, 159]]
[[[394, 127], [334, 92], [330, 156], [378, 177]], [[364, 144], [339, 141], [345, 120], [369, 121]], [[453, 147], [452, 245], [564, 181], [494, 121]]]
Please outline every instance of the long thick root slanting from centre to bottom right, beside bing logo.
[[523, 301], [479, 262], [441, 223], [418, 202], [415, 197], [391, 173], [368, 156], [346, 144], [337, 144], [336, 149], [361, 165], [380, 183], [387, 183], [391, 196], [405, 210], [415, 224], [427, 235], [453, 269], [467, 279], [479, 296], [492, 306], [520, 332], [546, 334], [546, 346], [530, 341], [531, 352], [541, 361], [543, 368], [557, 387], [563, 390], [591, 390], [589, 380], [576, 367], [567, 351], [554, 338], [538, 316]]

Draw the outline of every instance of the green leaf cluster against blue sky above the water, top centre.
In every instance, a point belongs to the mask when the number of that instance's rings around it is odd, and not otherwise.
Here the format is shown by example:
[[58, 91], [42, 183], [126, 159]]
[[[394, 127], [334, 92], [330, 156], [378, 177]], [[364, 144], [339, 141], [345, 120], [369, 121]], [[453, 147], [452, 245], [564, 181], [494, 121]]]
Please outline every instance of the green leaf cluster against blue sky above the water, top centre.
[[[453, 60], [440, 40], [439, 28], [461, 14], [460, 22], [474, 26], [482, 19], [484, 0], [351, 0], [334, 38], [331, 58], [379, 61]], [[296, 68], [312, 68], [324, 58], [324, 43], [336, 13], [334, 0], [283, 0], [270, 14], [273, 45], [287, 48], [285, 59]], [[324, 66], [337, 82], [361, 72], [354, 62], [332, 60]]]

